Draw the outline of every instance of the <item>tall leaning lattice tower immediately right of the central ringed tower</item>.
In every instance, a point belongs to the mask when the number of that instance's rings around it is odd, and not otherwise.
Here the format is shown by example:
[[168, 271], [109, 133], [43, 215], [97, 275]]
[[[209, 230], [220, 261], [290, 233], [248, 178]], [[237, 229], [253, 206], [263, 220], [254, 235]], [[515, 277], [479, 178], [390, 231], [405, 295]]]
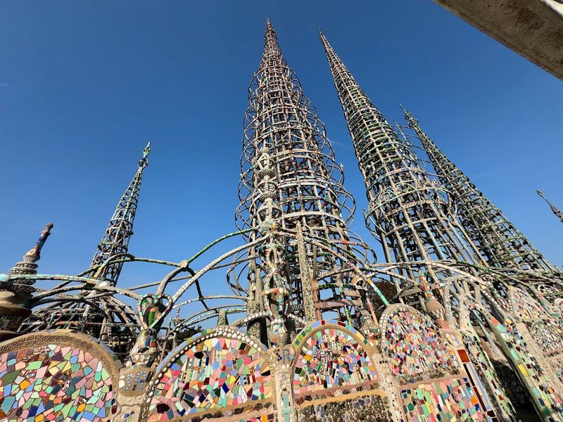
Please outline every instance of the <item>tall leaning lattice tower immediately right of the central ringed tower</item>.
[[[386, 260], [481, 264], [476, 245], [452, 217], [448, 192], [429, 178], [411, 146], [399, 139], [320, 35], [367, 189], [366, 224], [381, 241]], [[416, 276], [412, 266], [400, 271]], [[434, 281], [442, 278], [438, 270], [427, 271]]]

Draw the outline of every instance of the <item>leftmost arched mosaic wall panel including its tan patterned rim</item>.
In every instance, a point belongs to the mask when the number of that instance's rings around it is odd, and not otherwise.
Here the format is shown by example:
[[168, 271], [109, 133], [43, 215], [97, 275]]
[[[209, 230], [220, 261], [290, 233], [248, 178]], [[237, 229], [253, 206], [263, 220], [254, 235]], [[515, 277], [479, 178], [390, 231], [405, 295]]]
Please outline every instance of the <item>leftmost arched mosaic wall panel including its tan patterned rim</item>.
[[98, 340], [70, 330], [8, 340], [0, 346], [0, 415], [26, 422], [49, 414], [61, 420], [108, 421], [120, 367]]

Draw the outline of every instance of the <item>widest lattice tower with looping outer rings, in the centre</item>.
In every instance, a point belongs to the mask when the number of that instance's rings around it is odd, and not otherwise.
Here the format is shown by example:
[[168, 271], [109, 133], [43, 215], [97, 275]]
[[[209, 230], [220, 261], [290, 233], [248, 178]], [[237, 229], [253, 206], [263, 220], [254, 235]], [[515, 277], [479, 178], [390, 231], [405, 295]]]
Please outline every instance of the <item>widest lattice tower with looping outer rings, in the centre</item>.
[[[237, 226], [262, 227], [248, 233], [251, 243], [273, 236], [265, 224], [286, 236], [281, 243], [274, 236], [285, 262], [277, 276], [284, 278], [293, 319], [316, 321], [327, 312], [341, 320], [358, 318], [358, 309], [365, 304], [351, 287], [349, 268], [374, 257], [348, 231], [354, 200], [343, 186], [342, 168], [335, 162], [317, 110], [281, 55], [270, 21], [248, 100]], [[272, 274], [260, 264], [264, 250], [252, 248], [250, 253], [257, 258], [249, 270], [248, 313], [256, 314], [265, 312], [260, 296], [273, 288]]]

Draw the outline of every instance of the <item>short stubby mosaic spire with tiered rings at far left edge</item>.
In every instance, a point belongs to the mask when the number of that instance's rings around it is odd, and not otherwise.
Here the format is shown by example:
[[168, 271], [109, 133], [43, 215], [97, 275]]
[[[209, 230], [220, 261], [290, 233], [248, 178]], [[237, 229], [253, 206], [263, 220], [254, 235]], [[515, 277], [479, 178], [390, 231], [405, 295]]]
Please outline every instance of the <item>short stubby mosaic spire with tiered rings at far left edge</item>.
[[32, 287], [35, 281], [18, 279], [18, 276], [37, 274], [36, 262], [41, 258], [41, 250], [45, 241], [51, 235], [52, 228], [53, 223], [45, 224], [45, 229], [39, 235], [37, 243], [10, 270], [9, 277], [0, 274], [0, 341], [18, 335], [18, 329], [22, 322], [31, 314], [28, 302], [35, 291]]

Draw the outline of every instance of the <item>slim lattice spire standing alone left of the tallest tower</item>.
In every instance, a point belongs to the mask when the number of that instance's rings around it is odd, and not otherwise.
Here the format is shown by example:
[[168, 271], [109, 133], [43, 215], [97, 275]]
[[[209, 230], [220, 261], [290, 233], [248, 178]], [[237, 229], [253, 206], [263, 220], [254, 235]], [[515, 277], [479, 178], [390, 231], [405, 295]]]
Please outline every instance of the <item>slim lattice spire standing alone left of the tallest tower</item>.
[[[143, 150], [143, 157], [139, 160], [139, 168], [132, 181], [127, 186], [125, 193], [121, 196], [118, 206], [115, 207], [108, 228], [96, 249], [90, 267], [96, 267], [106, 262], [109, 257], [120, 253], [127, 253], [129, 239], [133, 234], [133, 222], [137, 204], [139, 203], [139, 192], [141, 191], [141, 180], [143, 170], [148, 165], [148, 154], [151, 153], [151, 141], [148, 141]], [[112, 286], [118, 282], [122, 263], [108, 264], [96, 271], [94, 278], [108, 281]]]

